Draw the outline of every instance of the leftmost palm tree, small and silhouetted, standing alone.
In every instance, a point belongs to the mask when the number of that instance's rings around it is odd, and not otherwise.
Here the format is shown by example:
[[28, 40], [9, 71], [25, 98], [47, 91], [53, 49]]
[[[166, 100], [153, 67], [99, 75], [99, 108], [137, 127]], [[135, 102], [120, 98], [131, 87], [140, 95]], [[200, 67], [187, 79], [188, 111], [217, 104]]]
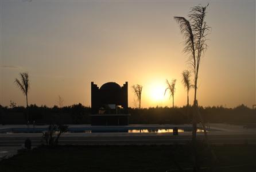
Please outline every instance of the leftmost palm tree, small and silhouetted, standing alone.
[[28, 91], [29, 91], [29, 75], [28, 73], [20, 73], [21, 80], [15, 79], [14, 83], [21, 89], [22, 93], [26, 96], [26, 118], [28, 120]]

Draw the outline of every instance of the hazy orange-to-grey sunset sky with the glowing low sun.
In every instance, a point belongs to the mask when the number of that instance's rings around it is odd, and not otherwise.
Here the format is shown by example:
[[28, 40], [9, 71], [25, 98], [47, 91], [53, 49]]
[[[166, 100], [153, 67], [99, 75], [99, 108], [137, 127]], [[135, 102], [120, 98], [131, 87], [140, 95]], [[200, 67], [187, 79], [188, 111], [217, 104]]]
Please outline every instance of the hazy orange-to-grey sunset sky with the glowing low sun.
[[[28, 72], [29, 104], [91, 105], [91, 81], [129, 83], [129, 106], [172, 106], [166, 79], [177, 79], [174, 105], [187, 103], [181, 73], [191, 69], [174, 16], [208, 1], [2, 1], [0, 104], [25, 105], [15, 86]], [[208, 49], [199, 69], [198, 103], [256, 104], [255, 1], [210, 1]], [[193, 89], [189, 92], [193, 102]]]

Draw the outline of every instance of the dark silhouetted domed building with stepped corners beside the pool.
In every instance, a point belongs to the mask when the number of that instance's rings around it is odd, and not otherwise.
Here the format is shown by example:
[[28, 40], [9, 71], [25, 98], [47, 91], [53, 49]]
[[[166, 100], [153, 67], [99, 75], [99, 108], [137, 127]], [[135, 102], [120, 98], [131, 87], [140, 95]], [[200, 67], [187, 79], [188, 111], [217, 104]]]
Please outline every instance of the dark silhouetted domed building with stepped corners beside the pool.
[[91, 124], [128, 125], [128, 83], [105, 83], [97, 87], [91, 82]]

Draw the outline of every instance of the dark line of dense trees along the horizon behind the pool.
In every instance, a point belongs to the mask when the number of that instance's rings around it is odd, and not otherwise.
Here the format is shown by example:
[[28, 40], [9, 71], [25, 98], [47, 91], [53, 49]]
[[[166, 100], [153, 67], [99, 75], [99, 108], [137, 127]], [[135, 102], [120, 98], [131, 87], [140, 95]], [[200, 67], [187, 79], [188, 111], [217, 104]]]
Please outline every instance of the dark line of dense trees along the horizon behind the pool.
[[[149, 108], [131, 108], [130, 124], [189, 124], [192, 120], [192, 114], [187, 114], [187, 108], [183, 107], [149, 107]], [[0, 105], [0, 124], [26, 124], [26, 107], [16, 106], [11, 101], [10, 107]], [[203, 119], [207, 123], [255, 123], [255, 111], [246, 105], [239, 105], [234, 108], [225, 108], [223, 106], [199, 107]], [[82, 104], [73, 104], [69, 106], [47, 107], [46, 105], [29, 105], [29, 122], [33, 124], [91, 124], [91, 108]]]

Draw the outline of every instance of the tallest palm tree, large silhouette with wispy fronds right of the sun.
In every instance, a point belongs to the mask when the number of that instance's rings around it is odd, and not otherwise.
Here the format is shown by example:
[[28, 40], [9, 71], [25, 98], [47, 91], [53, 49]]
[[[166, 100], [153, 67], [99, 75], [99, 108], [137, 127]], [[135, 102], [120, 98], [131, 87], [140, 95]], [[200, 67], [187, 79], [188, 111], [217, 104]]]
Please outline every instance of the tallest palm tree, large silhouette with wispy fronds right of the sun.
[[[192, 65], [194, 73], [194, 82], [195, 82], [195, 95], [193, 106], [195, 107], [193, 113], [193, 132], [192, 139], [196, 140], [196, 130], [197, 130], [197, 116], [198, 116], [198, 103], [196, 99], [197, 93], [197, 79], [199, 73], [199, 67], [201, 62], [201, 57], [207, 49], [206, 36], [210, 27], [205, 22], [206, 9], [207, 6], [195, 6], [192, 7], [188, 17], [174, 17], [180, 26], [180, 32], [184, 35], [184, 53], [189, 53], [189, 64]], [[204, 124], [203, 124], [204, 126]], [[207, 136], [205, 131], [205, 136]]]

